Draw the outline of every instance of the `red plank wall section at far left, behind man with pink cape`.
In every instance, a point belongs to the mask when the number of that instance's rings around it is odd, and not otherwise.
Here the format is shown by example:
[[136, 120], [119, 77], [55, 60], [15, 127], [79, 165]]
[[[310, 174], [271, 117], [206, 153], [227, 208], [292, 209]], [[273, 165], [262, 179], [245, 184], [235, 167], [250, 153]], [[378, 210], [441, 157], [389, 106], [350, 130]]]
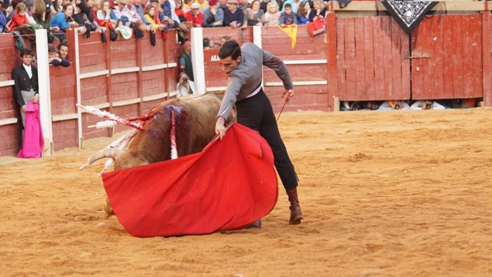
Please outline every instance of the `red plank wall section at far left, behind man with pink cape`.
[[[21, 64], [19, 50], [14, 46], [11, 33], [0, 35], [0, 156], [17, 155], [21, 144], [19, 107], [14, 100], [14, 86], [6, 83], [12, 80], [12, 69]], [[16, 121], [18, 120], [18, 121]]]

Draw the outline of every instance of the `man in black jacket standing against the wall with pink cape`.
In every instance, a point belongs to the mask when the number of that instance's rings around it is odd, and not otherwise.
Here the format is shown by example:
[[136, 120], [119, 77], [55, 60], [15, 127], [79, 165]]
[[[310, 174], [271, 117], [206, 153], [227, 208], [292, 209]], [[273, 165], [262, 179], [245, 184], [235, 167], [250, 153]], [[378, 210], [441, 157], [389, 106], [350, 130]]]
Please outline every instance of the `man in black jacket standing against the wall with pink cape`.
[[22, 65], [12, 70], [14, 80], [14, 98], [21, 110], [22, 126], [26, 125], [27, 103], [39, 101], [39, 84], [37, 80], [37, 68], [31, 65], [34, 53], [31, 49], [21, 51]]

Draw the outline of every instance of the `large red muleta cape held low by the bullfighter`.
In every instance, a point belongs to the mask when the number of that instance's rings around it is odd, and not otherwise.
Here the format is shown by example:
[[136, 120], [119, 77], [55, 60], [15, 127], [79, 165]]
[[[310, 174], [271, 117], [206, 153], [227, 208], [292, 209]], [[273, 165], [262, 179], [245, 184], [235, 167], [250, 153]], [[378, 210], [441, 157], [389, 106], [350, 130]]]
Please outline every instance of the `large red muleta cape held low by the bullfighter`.
[[136, 237], [239, 229], [269, 214], [278, 197], [270, 146], [239, 123], [200, 153], [115, 170], [102, 180], [115, 215]]

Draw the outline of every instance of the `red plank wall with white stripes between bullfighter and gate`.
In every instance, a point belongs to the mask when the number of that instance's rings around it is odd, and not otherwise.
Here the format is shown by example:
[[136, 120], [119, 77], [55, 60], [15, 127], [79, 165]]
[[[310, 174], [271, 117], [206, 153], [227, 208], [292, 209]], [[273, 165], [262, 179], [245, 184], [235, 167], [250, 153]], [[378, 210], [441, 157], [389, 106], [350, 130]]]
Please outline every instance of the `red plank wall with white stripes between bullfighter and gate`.
[[[261, 35], [263, 49], [270, 51], [287, 63], [287, 68], [295, 85], [296, 96], [285, 106], [284, 111], [328, 111], [328, 65], [325, 36], [311, 37], [307, 31], [307, 26], [300, 25], [297, 30], [297, 43], [292, 48], [292, 40], [279, 27], [263, 27]], [[288, 64], [292, 61], [300, 64]], [[312, 61], [324, 62], [313, 63]], [[264, 66], [263, 82], [265, 93], [269, 96], [274, 111], [280, 111], [284, 103], [284, 98], [280, 98], [283, 86], [278, 83], [281, 80], [272, 69]], [[305, 85], [296, 85], [296, 82], [303, 82]]]

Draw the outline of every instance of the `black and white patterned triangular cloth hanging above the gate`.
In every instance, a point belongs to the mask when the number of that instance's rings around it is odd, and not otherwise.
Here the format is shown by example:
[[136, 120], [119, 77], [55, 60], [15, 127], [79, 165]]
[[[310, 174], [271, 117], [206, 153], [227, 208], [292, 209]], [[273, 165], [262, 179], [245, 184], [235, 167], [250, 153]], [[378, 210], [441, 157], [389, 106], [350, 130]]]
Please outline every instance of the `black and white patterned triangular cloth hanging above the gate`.
[[382, 1], [391, 16], [398, 22], [400, 27], [410, 34], [424, 18], [424, 16], [435, 6], [438, 1], [418, 0], [387, 0]]

